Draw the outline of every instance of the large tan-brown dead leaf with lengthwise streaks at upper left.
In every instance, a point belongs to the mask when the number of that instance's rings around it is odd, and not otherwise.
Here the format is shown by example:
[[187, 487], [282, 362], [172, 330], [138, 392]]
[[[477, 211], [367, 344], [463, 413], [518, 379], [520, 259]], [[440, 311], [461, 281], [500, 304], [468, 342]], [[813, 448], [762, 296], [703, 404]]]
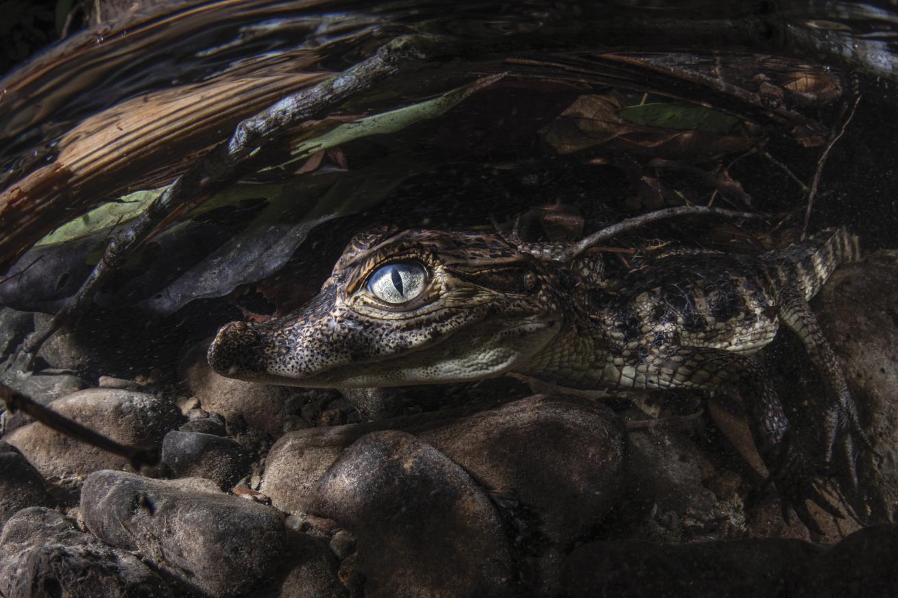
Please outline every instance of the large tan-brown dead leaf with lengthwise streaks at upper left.
[[[167, 184], [242, 119], [325, 73], [256, 75], [146, 92], [84, 119], [55, 159], [0, 191], [0, 265], [103, 198]], [[178, 151], [172, 151], [177, 147]]]

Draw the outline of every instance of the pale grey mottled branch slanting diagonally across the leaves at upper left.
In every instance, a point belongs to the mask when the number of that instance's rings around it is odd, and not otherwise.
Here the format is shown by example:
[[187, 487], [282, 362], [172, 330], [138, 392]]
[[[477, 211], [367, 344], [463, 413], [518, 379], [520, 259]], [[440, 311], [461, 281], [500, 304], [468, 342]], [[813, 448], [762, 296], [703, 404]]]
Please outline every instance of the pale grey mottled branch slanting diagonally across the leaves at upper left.
[[198, 203], [216, 185], [233, 180], [239, 174], [238, 166], [269, 139], [308, 119], [321, 118], [384, 79], [402, 71], [413, 72], [435, 57], [445, 57], [453, 48], [452, 44], [436, 36], [397, 38], [379, 48], [374, 56], [350, 66], [339, 75], [288, 95], [259, 114], [243, 120], [229, 140], [204, 155], [155, 198], [127, 228], [116, 233], [75, 296], [42, 329], [35, 330], [25, 339], [24, 351], [30, 356], [24, 360], [25, 366], [31, 367], [33, 356], [53, 332], [87, 310], [103, 282], [174, 209], [190, 205], [190, 202]]

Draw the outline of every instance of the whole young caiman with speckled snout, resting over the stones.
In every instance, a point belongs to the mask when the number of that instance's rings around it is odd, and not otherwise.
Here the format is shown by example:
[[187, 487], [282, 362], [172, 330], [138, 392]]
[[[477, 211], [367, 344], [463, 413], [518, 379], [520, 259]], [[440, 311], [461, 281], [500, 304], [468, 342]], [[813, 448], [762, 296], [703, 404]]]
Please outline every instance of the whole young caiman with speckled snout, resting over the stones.
[[[304, 309], [226, 324], [208, 361], [225, 376], [308, 387], [514, 373], [574, 389], [722, 391], [744, 401], [772, 481], [802, 519], [805, 498], [828, 504], [806, 483], [813, 474], [838, 459], [856, 484], [855, 443], [867, 436], [807, 303], [835, 268], [858, 259], [856, 236], [840, 228], [762, 254], [673, 251], [610, 280], [601, 262], [553, 259], [562, 250], [497, 233], [359, 234]], [[753, 356], [780, 324], [827, 388], [814, 440], [801, 447]]]

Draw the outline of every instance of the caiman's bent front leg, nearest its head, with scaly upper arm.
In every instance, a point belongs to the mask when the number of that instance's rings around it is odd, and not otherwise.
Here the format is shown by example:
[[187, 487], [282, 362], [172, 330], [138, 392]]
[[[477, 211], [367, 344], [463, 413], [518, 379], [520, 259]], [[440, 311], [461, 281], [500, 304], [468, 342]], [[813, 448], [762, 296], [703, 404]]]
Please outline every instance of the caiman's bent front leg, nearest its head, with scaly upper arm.
[[769, 481], [779, 491], [784, 513], [791, 506], [798, 518], [814, 530], [819, 527], [807, 509], [806, 499], [841, 516], [815, 488], [814, 471], [806, 468], [806, 463], [790, 448], [791, 430], [782, 403], [766, 368], [753, 356], [709, 347], [647, 347], [636, 362], [613, 369], [615, 372], [606, 369], [606, 376], [618, 376], [618, 380], [610, 382], [622, 386], [738, 394], [748, 412], [754, 442], [770, 470]]

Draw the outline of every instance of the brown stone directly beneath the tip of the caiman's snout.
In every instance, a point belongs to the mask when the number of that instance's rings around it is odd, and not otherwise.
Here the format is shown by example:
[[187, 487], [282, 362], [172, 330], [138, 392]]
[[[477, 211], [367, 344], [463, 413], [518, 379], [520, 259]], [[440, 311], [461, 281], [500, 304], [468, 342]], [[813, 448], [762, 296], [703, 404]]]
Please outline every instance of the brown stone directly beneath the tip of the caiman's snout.
[[290, 389], [216, 374], [206, 361], [209, 342], [211, 339], [191, 349], [182, 361], [189, 391], [203, 409], [220, 413], [229, 422], [242, 421], [274, 437], [283, 434]]

